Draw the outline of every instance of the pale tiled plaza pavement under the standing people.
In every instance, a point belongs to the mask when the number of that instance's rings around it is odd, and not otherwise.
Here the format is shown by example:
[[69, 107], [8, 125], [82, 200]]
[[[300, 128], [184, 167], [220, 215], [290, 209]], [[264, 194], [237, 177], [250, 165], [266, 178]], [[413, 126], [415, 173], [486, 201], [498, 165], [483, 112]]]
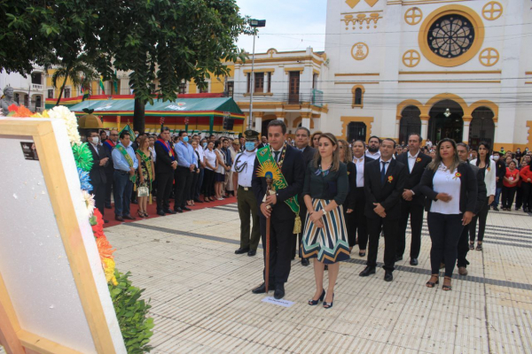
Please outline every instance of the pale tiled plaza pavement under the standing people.
[[359, 277], [356, 248], [340, 266], [329, 310], [307, 304], [314, 273], [299, 258], [286, 283], [291, 307], [251, 293], [262, 281], [262, 252], [234, 254], [236, 204], [121, 224], [106, 235], [118, 268], [152, 299], [155, 353], [530, 353], [532, 217], [489, 212], [488, 225], [484, 250], [469, 252], [469, 275], [457, 275], [450, 292], [425, 287], [426, 227], [419, 266], [405, 258], [391, 283], [381, 268]]

